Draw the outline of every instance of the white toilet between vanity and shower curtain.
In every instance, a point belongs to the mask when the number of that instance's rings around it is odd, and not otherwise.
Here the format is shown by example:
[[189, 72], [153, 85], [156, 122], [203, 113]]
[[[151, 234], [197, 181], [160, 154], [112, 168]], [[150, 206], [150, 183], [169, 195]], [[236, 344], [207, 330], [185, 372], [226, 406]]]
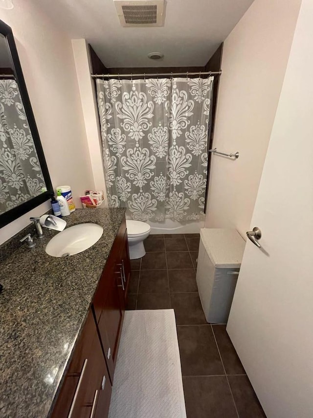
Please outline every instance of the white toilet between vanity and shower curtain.
[[143, 257], [146, 254], [143, 240], [150, 234], [150, 225], [141, 221], [126, 221], [126, 228], [130, 259]]

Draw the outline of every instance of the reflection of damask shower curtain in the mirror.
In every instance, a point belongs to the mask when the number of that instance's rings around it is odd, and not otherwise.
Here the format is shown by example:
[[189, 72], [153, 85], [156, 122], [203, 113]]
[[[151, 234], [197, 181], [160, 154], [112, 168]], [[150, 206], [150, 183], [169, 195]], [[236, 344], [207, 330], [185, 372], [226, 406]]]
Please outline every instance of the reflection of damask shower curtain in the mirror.
[[18, 84], [0, 79], [0, 214], [39, 196], [44, 188]]

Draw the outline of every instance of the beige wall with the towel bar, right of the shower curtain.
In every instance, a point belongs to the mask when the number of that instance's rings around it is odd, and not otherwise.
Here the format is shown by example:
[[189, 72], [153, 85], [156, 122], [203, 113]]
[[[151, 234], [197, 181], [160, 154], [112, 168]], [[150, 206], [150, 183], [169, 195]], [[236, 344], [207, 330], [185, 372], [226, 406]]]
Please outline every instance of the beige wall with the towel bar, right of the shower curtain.
[[255, 0], [224, 42], [205, 226], [250, 227], [301, 0]]

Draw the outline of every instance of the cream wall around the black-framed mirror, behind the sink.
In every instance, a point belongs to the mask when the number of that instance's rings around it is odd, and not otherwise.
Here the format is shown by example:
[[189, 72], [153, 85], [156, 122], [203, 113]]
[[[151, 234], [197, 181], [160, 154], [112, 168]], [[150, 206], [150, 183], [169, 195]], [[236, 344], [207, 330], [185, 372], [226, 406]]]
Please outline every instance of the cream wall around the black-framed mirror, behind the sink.
[[[0, 19], [13, 30], [45, 158], [54, 187], [69, 184], [79, 196], [93, 188], [83, 112], [69, 37], [30, 1], [15, 0]], [[41, 215], [49, 202], [0, 229], [0, 244]]]

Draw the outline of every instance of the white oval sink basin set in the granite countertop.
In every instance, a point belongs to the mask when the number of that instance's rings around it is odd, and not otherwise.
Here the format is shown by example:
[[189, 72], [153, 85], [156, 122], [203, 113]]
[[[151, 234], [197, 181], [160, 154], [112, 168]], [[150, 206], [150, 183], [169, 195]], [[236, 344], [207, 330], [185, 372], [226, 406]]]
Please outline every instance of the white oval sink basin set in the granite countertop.
[[45, 252], [52, 257], [74, 255], [93, 246], [102, 234], [102, 226], [96, 223], [79, 223], [51, 238], [45, 247]]

